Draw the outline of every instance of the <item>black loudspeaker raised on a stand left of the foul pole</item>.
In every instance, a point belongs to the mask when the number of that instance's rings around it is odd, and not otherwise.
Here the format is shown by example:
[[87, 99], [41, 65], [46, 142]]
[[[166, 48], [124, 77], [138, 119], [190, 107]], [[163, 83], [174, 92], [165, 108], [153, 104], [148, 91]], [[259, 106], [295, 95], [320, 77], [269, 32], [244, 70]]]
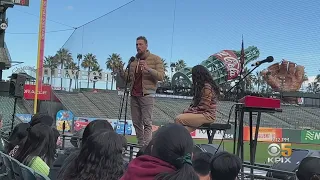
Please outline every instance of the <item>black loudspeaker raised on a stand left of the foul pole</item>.
[[22, 98], [24, 94], [24, 84], [26, 76], [21, 74], [12, 74], [10, 78], [9, 96]]

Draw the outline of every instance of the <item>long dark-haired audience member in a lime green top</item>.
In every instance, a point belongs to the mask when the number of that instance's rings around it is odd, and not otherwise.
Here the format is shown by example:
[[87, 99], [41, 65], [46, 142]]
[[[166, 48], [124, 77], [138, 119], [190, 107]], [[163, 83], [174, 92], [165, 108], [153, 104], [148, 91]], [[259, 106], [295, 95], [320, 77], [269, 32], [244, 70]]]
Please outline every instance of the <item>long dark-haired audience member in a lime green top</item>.
[[13, 157], [36, 172], [48, 176], [54, 160], [55, 140], [51, 127], [39, 123], [27, 129], [24, 144], [20, 145]]

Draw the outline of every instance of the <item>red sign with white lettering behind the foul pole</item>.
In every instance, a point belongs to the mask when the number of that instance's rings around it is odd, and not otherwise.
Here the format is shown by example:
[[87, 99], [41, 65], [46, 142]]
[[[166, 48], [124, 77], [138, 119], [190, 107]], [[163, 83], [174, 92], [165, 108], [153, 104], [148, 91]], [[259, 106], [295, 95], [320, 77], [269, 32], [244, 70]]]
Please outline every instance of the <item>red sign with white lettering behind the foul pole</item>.
[[[24, 85], [24, 98], [27, 100], [34, 100], [36, 85]], [[38, 100], [49, 101], [51, 100], [51, 86], [42, 85], [38, 91]]]

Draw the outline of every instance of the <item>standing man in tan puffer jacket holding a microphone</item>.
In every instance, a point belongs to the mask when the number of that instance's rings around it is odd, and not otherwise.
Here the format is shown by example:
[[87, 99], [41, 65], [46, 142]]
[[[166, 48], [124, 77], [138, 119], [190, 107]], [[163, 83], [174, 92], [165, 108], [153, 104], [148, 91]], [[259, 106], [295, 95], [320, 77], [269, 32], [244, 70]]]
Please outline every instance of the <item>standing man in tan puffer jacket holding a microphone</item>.
[[137, 38], [136, 48], [138, 53], [129, 65], [130, 72], [124, 72], [123, 68], [120, 68], [120, 74], [124, 80], [129, 74], [132, 122], [138, 144], [143, 146], [152, 139], [153, 95], [156, 93], [158, 81], [164, 78], [164, 66], [161, 58], [148, 50], [145, 37]]

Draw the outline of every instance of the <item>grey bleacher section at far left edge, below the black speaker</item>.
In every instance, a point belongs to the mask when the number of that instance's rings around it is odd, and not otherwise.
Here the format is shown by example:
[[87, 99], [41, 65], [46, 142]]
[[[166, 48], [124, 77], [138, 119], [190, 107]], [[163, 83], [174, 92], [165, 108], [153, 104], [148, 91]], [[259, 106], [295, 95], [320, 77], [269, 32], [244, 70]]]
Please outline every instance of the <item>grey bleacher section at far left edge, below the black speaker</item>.
[[[2, 130], [4, 132], [10, 132], [13, 107], [14, 107], [14, 98], [0, 96], [0, 114], [2, 114], [3, 116]], [[22, 104], [17, 103], [16, 114], [27, 114], [27, 113], [28, 111], [26, 110], [26, 108]], [[15, 118], [15, 124], [19, 122], [20, 122], [19, 119]]]

